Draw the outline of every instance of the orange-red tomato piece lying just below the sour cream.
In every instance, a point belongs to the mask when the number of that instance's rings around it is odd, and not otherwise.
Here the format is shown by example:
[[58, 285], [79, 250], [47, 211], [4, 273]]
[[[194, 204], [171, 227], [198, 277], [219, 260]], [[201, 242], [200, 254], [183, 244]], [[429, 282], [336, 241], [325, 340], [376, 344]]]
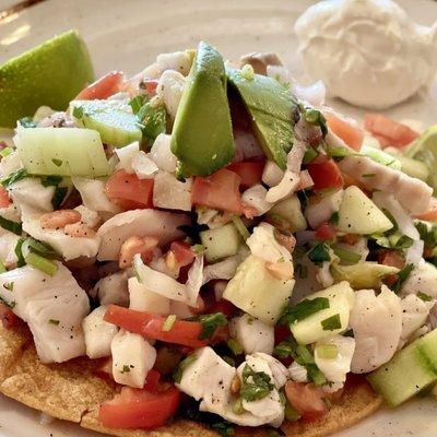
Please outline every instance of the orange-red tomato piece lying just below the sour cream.
[[418, 133], [408, 126], [394, 121], [382, 114], [367, 114], [364, 118], [364, 127], [378, 139], [382, 138], [386, 145], [403, 147], [414, 141]]

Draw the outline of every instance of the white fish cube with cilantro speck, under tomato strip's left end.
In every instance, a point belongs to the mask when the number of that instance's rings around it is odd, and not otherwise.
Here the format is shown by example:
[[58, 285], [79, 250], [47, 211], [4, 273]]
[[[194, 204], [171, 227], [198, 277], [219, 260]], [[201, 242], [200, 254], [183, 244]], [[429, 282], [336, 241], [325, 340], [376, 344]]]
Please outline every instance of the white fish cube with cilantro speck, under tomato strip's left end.
[[156, 361], [156, 350], [139, 334], [120, 329], [110, 345], [114, 380], [142, 389]]

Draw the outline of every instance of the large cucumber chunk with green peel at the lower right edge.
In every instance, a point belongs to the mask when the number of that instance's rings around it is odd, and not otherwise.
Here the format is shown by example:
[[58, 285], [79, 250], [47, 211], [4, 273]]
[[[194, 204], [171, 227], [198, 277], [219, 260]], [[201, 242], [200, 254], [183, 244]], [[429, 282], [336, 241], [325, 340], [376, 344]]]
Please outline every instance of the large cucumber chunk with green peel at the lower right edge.
[[390, 406], [397, 406], [437, 381], [437, 330], [399, 351], [367, 376]]

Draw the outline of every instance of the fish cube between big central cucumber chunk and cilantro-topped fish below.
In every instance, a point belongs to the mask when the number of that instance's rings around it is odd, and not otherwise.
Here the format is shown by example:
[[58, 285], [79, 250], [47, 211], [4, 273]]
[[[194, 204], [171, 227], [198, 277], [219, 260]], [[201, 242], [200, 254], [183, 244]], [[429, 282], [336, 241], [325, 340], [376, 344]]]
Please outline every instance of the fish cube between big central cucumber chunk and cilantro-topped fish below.
[[231, 336], [243, 347], [245, 354], [273, 353], [274, 329], [249, 315], [235, 317], [229, 322]]

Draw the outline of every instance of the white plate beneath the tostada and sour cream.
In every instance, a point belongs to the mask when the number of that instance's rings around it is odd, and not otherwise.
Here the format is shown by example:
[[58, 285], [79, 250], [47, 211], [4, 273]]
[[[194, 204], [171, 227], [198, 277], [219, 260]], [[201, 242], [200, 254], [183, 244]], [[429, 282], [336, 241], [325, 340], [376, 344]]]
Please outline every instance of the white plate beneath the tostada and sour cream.
[[[437, 20], [437, 2], [399, 1], [422, 24]], [[97, 74], [141, 70], [164, 51], [194, 47], [199, 39], [215, 45], [228, 59], [248, 51], [276, 51], [296, 78], [305, 80], [296, 56], [293, 23], [309, 0], [47, 0], [0, 21], [0, 63], [71, 27], [86, 39]], [[0, 13], [0, 17], [1, 17]], [[361, 117], [364, 113], [334, 102]], [[437, 87], [389, 114], [437, 122]], [[38, 424], [38, 413], [0, 397], [0, 437], [91, 437], [95, 433], [55, 422]], [[381, 410], [338, 437], [436, 437], [437, 402], [418, 400], [394, 412]]]

